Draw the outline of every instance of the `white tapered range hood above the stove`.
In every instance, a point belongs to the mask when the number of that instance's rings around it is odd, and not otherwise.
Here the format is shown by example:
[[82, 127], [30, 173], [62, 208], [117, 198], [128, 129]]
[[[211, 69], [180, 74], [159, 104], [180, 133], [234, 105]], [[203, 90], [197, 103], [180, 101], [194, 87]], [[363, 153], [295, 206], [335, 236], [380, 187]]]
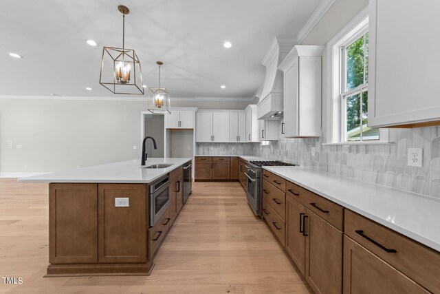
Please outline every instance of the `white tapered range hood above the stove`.
[[266, 76], [257, 104], [258, 119], [283, 117], [283, 72], [278, 71], [278, 65], [294, 48], [294, 45], [296, 45], [296, 38], [277, 36], [261, 61], [261, 64], [266, 67]]

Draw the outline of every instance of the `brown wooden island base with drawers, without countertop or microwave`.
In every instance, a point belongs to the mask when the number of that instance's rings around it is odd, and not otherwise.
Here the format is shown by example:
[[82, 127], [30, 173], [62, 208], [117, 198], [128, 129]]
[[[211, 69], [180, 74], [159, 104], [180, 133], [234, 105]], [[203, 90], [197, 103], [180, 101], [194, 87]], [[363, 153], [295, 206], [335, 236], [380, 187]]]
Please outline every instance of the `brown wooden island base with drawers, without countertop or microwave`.
[[50, 183], [47, 276], [148, 275], [183, 207], [182, 171], [170, 172], [170, 206], [150, 228], [147, 184]]

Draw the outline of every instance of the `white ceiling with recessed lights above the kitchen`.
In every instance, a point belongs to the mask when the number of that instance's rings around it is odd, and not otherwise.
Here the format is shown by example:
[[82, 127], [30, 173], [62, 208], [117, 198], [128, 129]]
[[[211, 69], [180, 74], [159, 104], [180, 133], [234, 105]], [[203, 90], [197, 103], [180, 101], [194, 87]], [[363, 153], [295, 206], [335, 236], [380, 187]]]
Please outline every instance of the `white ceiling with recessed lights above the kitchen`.
[[[251, 97], [274, 36], [298, 34], [320, 0], [14, 0], [0, 10], [0, 95], [115, 96], [98, 83], [102, 46], [126, 48], [144, 83], [174, 97]], [[94, 39], [98, 46], [85, 43]], [[230, 41], [232, 48], [223, 48]], [[23, 59], [12, 59], [17, 52]], [[220, 85], [226, 85], [223, 90]], [[85, 87], [92, 87], [89, 92]]]

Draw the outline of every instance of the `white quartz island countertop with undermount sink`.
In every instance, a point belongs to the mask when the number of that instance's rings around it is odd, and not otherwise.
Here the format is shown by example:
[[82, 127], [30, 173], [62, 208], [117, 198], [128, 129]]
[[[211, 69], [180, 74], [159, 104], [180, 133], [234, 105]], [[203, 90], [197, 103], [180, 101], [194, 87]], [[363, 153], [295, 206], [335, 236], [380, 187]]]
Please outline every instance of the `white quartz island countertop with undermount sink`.
[[144, 183], [148, 184], [161, 176], [177, 169], [192, 158], [148, 158], [146, 165], [167, 163], [165, 169], [142, 169], [140, 159], [126, 160], [96, 165], [82, 169], [71, 169], [52, 174], [43, 174], [28, 178], [19, 178], [19, 182], [114, 182], [114, 183]]

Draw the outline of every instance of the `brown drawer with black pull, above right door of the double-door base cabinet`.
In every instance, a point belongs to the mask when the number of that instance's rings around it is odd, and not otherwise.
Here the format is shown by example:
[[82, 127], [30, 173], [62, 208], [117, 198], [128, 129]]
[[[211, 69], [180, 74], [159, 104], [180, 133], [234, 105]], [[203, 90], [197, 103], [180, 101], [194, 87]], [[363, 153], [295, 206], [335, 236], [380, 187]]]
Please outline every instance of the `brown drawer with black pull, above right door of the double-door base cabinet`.
[[310, 211], [327, 220], [336, 229], [344, 231], [344, 207], [331, 202], [315, 193], [304, 189], [306, 197], [300, 198], [300, 202]]

